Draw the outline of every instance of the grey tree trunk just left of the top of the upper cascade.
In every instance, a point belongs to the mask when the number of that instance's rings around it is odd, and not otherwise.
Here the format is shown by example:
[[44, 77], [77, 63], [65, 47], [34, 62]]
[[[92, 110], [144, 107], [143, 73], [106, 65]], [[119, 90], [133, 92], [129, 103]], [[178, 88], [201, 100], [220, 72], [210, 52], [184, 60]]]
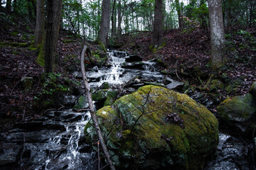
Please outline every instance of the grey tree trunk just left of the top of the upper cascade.
[[110, 0], [102, 1], [102, 15], [100, 21], [99, 40], [107, 46], [107, 36], [110, 30]]

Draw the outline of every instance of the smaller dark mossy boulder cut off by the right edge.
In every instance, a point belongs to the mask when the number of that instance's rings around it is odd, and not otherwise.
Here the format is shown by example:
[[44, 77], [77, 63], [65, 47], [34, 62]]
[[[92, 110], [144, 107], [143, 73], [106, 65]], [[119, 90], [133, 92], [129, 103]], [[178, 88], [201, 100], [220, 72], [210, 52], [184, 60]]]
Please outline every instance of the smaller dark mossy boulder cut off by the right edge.
[[252, 127], [256, 123], [256, 98], [252, 94], [227, 98], [217, 111], [220, 119], [233, 127], [237, 135], [252, 135]]

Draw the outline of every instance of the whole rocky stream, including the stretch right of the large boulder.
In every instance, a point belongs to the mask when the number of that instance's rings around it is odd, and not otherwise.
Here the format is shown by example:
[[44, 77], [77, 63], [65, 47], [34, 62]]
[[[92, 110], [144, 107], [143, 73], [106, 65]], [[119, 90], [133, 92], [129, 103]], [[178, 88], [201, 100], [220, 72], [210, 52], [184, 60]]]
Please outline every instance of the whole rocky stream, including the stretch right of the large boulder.
[[[155, 62], [142, 62], [126, 52], [109, 51], [108, 67], [87, 70], [91, 89], [96, 91], [104, 83], [120, 89], [133, 79], [130, 91], [145, 84], [164, 84], [164, 75]], [[80, 72], [74, 72], [78, 79]], [[137, 78], [137, 79], [134, 79]], [[181, 83], [170, 78], [168, 85]], [[122, 87], [122, 86], [121, 86]], [[76, 96], [67, 96], [67, 102]], [[16, 123], [15, 129], [0, 133], [0, 169], [97, 169], [97, 153], [85, 143], [83, 129], [90, 120], [89, 111], [75, 112], [72, 108], [48, 111], [46, 115], [28, 123]], [[249, 170], [249, 147], [238, 138], [220, 132], [218, 155], [206, 164], [210, 170]]]

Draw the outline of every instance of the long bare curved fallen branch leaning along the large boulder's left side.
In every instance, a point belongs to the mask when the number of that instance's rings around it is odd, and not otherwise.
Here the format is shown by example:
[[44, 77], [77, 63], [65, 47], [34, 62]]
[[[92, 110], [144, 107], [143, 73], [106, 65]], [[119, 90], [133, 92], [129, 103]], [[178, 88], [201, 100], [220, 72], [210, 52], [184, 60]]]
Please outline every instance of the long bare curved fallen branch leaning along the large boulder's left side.
[[88, 100], [88, 103], [89, 103], [89, 108], [90, 108], [90, 115], [92, 117], [92, 121], [95, 125], [95, 128], [96, 128], [96, 132], [97, 132], [97, 136], [99, 137], [99, 140], [100, 140], [100, 145], [102, 146], [102, 149], [103, 149], [103, 152], [105, 154], [105, 157], [107, 159], [107, 163], [110, 164], [110, 169], [114, 170], [114, 165], [112, 163], [112, 160], [110, 159], [110, 154], [109, 152], [107, 151], [107, 147], [105, 145], [105, 141], [102, 137], [102, 132], [100, 130], [100, 125], [97, 121], [97, 117], [95, 115], [95, 110], [94, 110], [94, 107], [93, 107], [93, 104], [92, 104], [92, 94], [90, 93], [90, 86], [88, 84], [88, 81], [87, 81], [87, 77], [85, 76], [85, 63], [84, 63], [84, 59], [85, 59], [85, 54], [90, 54], [90, 49], [84, 45], [84, 47], [82, 48], [82, 54], [81, 54], [81, 70], [82, 70], [82, 80], [85, 84], [85, 91], [86, 91], [86, 95], [87, 95], [87, 100]]

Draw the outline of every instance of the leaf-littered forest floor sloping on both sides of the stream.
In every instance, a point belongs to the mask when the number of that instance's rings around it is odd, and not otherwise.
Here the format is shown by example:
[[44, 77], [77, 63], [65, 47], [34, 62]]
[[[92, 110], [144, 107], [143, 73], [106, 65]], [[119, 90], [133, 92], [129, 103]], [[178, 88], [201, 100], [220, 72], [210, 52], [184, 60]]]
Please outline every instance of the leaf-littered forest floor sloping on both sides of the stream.
[[[33, 48], [34, 26], [21, 18], [9, 18], [1, 13], [0, 26], [0, 131], [9, 130], [14, 121], [28, 120], [41, 112], [33, 106], [43, 91], [43, 67], [37, 62], [38, 51]], [[15, 21], [15, 22], [14, 22]], [[256, 30], [226, 30], [228, 63], [220, 71], [212, 72], [210, 62], [210, 34], [195, 29], [191, 33], [168, 30], [160, 49], [151, 46], [151, 33], [123, 36], [119, 50], [137, 54], [144, 60], [156, 58], [161, 69], [173, 79], [189, 80], [191, 86], [206, 84], [210, 74], [216, 79], [225, 75], [229, 84], [237, 84], [232, 93], [219, 89], [220, 101], [228, 96], [247, 93], [256, 81]], [[14, 42], [14, 43], [13, 43]], [[31, 46], [32, 45], [32, 46]], [[91, 44], [93, 47], [93, 44]], [[80, 69], [82, 39], [60, 33], [58, 64], [55, 73], [73, 79], [72, 70]], [[223, 74], [224, 73], [224, 74]], [[32, 77], [33, 86], [24, 91], [23, 77]], [[10, 121], [11, 120], [11, 121]]]

